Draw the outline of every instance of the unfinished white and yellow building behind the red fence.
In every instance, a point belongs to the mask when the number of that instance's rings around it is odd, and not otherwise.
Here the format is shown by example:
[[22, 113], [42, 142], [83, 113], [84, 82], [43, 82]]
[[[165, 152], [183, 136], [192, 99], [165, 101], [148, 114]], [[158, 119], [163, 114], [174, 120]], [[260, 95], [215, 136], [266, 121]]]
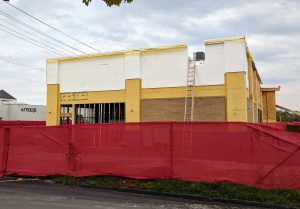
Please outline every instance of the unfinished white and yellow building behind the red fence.
[[[279, 87], [261, 87], [244, 37], [197, 55], [193, 121], [275, 122]], [[48, 59], [47, 125], [183, 121], [189, 60], [184, 44]]]

